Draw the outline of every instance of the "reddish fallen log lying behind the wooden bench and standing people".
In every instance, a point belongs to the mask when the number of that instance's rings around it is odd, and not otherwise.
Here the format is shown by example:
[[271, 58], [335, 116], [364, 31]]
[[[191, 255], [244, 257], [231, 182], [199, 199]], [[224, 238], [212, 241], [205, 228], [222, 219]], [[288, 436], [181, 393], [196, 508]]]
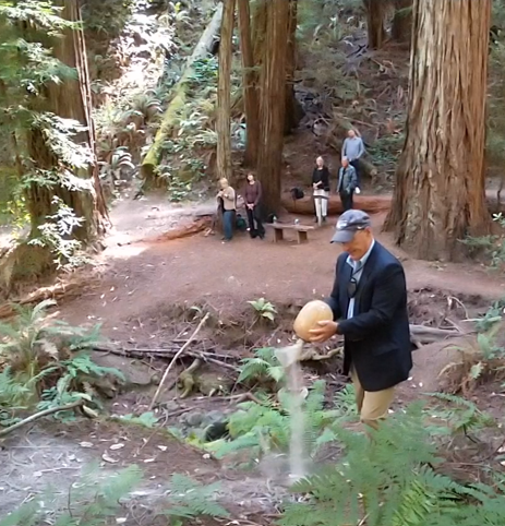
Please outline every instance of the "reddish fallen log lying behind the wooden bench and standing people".
[[[392, 194], [384, 195], [354, 195], [354, 208], [362, 210], [369, 214], [378, 214], [381, 212], [389, 212], [392, 204]], [[505, 203], [501, 203], [496, 198], [495, 191], [485, 192], [485, 201], [490, 212], [493, 214], [505, 214]], [[290, 193], [285, 193], [280, 198], [281, 205], [290, 214], [314, 215], [314, 200], [312, 195], [305, 195], [303, 199], [293, 201]], [[341, 214], [342, 206], [340, 198], [336, 194], [329, 195], [328, 214]]]

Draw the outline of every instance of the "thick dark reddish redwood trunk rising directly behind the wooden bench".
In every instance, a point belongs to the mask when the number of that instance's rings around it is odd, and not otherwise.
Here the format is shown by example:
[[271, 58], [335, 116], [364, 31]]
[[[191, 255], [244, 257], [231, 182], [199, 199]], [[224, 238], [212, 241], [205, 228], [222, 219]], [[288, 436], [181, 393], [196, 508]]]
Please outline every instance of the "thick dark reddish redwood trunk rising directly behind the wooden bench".
[[263, 187], [265, 212], [273, 213], [280, 204], [289, 0], [269, 0], [266, 9], [257, 178]]

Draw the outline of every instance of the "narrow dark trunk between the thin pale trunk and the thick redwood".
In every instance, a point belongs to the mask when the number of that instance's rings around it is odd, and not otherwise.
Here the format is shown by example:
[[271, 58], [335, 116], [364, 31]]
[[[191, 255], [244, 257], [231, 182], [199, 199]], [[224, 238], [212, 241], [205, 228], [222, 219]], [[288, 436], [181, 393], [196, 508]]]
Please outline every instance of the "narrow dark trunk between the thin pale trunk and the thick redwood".
[[251, 39], [251, 10], [249, 0], [238, 0], [240, 51], [242, 56], [242, 86], [247, 123], [244, 165], [255, 167], [260, 143], [260, 116], [257, 111], [257, 72], [254, 70], [254, 49]]

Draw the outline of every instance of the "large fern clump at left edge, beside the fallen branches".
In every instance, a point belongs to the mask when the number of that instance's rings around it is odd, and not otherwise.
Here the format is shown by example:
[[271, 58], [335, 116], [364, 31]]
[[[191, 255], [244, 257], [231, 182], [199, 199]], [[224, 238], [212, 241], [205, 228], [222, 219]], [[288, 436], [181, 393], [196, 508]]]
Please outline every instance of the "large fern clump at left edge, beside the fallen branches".
[[[12, 422], [22, 409], [48, 409], [82, 399], [93, 413], [100, 395], [113, 392], [108, 378], [123, 374], [95, 363], [86, 352], [101, 343], [100, 326], [75, 327], [48, 316], [56, 304], [45, 300], [33, 308], [16, 306], [17, 316], [0, 323], [0, 411]], [[4, 423], [5, 423], [4, 422]]]

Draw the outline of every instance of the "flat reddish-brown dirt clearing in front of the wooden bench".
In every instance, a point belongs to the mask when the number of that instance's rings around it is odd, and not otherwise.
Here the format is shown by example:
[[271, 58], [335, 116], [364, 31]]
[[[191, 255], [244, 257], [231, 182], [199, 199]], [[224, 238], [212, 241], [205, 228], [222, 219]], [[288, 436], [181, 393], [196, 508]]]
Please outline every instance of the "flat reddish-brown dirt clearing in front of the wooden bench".
[[[377, 239], [390, 248], [390, 238], [380, 234], [383, 217], [373, 220]], [[135, 220], [131, 222], [134, 227]], [[310, 242], [302, 246], [289, 240], [273, 243], [270, 232], [264, 241], [239, 235], [229, 244], [223, 244], [218, 236], [203, 235], [121, 247], [109, 242], [101, 256], [107, 270], [100, 288], [65, 304], [63, 313], [72, 323], [93, 316], [104, 323], [107, 335], [128, 339], [133, 319], [142, 323], [173, 306], [209, 303], [226, 316], [260, 297], [277, 304], [322, 297], [330, 290], [339, 253], [328, 242], [332, 228], [310, 232]], [[455, 296], [482, 296], [490, 302], [505, 294], [500, 274], [469, 264], [410, 260], [392, 250], [404, 260], [411, 290], [441, 289]]]

